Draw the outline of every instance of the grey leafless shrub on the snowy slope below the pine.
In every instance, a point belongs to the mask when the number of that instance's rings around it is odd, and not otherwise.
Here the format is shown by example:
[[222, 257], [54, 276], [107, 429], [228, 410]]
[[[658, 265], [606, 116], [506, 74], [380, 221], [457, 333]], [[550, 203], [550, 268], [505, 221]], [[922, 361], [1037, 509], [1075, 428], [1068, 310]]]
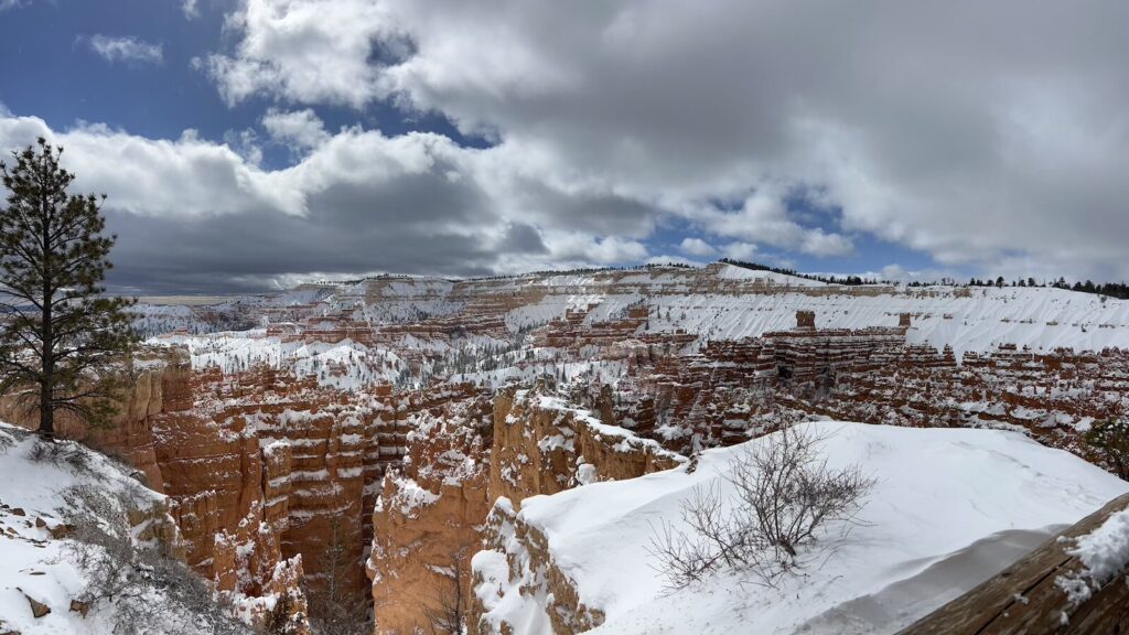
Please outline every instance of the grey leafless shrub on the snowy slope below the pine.
[[167, 546], [140, 545], [133, 539], [125, 513], [128, 495], [79, 485], [64, 490], [63, 498], [63, 521], [71, 528], [67, 548], [87, 579], [76, 599], [89, 608], [112, 607], [114, 633], [250, 633]]

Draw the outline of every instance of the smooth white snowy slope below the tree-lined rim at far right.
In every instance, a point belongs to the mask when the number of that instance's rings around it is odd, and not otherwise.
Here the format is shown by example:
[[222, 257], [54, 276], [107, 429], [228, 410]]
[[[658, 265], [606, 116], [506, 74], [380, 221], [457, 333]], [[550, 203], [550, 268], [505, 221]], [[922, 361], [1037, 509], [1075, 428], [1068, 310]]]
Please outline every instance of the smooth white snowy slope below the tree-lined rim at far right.
[[1004, 343], [1036, 350], [1129, 347], [1129, 302], [1054, 288], [942, 287], [874, 296], [671, 295], [650, 302], [656, 307], [651, 330], [684, 329], [708, 339], [789, 330], [796, 325], [796, 311], [813, 311], [820, 329], [895, 327], [901, 313], [910, 313], [910, 343], [952, 346], [957, 356]]

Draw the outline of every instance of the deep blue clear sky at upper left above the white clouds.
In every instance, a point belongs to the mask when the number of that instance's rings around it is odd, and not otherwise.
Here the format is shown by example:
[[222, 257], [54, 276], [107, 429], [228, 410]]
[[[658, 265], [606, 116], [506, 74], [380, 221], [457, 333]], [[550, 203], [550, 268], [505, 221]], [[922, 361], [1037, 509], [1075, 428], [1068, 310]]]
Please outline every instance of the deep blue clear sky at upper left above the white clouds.
[[[271, 101], [225, 104], [211, 79], [192, 64], [193, 58], [224, 46], [224, 18], [237, 5], [200, 0], [187, 19], [182, 5], [172, 0], [26, 2], [0, 14], [0, 103], [56, 129], [87, 121], [157, 139], [193, 129], [217, 142], [233, 131], [256, 129]], [[159, 45], [161, 60], [107, 61], [89, 44], [99, 34]], [[385, 103], [361, 110], [312, 107], [329, 129], [361, 124], [390, 134], [427, 130], [458, 137], [441, 115], [409, 118]], [[292, 163], [286, 148], [266, 146], [264, 154], [270, 168]]]

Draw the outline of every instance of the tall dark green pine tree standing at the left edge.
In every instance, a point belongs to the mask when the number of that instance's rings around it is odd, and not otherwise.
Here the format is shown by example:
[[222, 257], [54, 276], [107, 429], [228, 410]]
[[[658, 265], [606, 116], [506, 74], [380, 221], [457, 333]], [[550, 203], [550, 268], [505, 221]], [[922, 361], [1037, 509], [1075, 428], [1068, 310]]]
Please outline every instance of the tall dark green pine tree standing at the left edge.
[[103, 280], [115, 236], [105, 236], [102, 199], [68, 192], [75, 174], [62, 148], [40, 139], [0, 162], [0, 392], [38, 410], [54, 437], [56, 411], [89, 425], [108, 421], [120, 388], [113, 372], [135, 343], [126, 308]]

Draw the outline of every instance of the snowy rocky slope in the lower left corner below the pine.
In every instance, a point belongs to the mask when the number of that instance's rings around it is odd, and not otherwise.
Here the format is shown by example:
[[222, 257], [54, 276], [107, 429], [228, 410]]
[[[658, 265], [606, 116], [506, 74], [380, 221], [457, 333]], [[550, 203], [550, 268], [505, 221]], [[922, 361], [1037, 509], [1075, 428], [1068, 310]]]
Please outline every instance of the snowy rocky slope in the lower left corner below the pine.
[[[0, 633], [252, 633], [239, 620], [262, 623], [297, 586], [292, 560], [274, 568], [270, 594], [217, 594], [183, 562], [172, 499], [137, 477], [79, 443], [0, 423]], [[305, 610], [294, 600], [287, 616]]]

